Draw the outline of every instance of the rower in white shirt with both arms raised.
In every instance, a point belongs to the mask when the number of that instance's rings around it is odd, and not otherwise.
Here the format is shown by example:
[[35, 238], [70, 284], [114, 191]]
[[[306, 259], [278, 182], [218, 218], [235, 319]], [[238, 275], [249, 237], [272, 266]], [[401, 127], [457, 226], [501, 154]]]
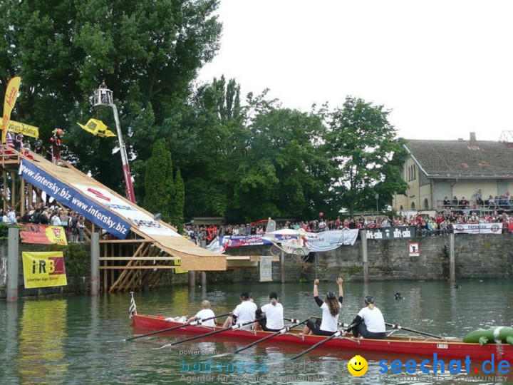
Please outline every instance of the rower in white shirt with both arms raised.
[[336, 299], [334, 292], [326, 293], [324, 301], [318, 297], [318, 283], [319, 280], [314, 281], [314, 299], [318, 306], [323, 311], [322, 319], [316, 319], [306, 323], [306, 327], [303, 329], [303, 334], [316, 334], [318, 336], [331, 336], [337, 331], [338, 315], [342, 308], [343, 301], [343, 279], [338, 277], [336, 283], [338, 284], [338, 299]]

